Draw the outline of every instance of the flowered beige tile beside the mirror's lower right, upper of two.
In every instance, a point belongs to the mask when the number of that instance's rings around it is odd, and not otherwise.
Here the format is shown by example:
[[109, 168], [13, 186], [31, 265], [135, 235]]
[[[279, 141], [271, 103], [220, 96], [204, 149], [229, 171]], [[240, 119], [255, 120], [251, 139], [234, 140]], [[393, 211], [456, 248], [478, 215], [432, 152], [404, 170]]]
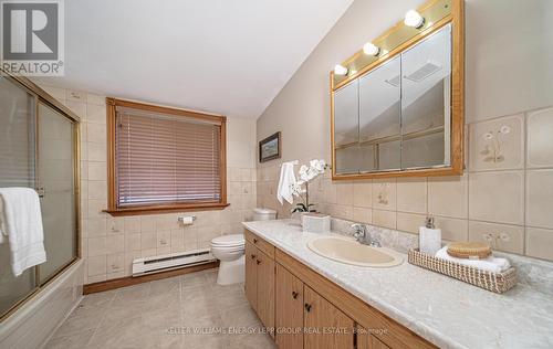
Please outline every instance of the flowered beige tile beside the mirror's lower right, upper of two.
[[522, 169], [524, 116], [515, 115], [469, 125], [469, 170]]

